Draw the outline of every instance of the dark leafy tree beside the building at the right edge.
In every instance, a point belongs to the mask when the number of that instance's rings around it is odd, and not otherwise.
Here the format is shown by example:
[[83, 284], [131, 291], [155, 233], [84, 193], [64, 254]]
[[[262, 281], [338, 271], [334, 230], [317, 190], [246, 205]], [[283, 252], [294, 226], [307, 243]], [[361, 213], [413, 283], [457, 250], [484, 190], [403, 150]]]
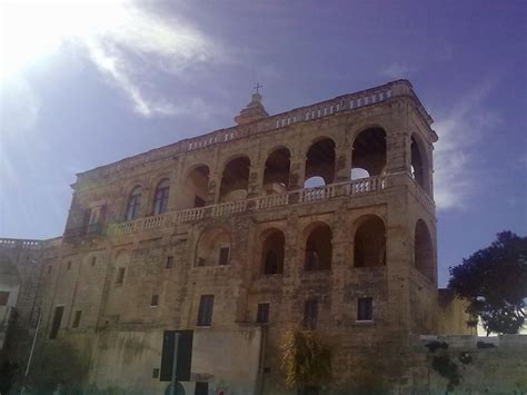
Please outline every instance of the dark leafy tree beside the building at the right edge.
[[[487, 336], [516, 334], [524, 326], [527, 299], [527, 237], [507, 230], [487, 248], [450, 267], [448, 287], [468, 300], [467, 313], [479, 316]], [[476, 325], [471, 319], [469, 325]]]

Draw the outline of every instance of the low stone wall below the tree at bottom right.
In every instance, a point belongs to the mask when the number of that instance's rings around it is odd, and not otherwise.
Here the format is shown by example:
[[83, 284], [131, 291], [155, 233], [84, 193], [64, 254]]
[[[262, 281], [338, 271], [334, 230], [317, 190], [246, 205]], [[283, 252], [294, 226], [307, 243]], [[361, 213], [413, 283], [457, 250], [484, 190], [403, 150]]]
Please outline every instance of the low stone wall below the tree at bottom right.
[[420, 336], [404, 393], [526, 394], [527, 336]]

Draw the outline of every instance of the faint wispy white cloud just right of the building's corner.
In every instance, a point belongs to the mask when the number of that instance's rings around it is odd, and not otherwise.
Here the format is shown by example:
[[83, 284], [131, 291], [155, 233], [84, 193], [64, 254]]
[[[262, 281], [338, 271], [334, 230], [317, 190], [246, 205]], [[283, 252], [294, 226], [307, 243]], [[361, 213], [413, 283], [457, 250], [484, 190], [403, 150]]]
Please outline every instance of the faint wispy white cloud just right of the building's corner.
[[465, 208], [478, 190], [478, 182], [483, 179], [478, 141], [501, 121], [496, 112], [484, 107], [490, 90], [490, 83], [476, 87], [454, 102], [435, 125], [439, 136], [435, 146], [434, 174], [438, 209]]

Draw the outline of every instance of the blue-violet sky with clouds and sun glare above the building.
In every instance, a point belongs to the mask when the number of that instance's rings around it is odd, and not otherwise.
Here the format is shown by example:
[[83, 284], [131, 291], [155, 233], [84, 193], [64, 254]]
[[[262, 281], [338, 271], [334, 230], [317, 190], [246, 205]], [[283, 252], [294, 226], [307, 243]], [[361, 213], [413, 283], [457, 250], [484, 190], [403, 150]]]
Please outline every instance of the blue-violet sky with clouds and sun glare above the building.
[[408, 78], [435, 119], [439, 279], [527, 234], [526, 1], [2, 2], [0, 236], [62, 234], [76, 172]]

